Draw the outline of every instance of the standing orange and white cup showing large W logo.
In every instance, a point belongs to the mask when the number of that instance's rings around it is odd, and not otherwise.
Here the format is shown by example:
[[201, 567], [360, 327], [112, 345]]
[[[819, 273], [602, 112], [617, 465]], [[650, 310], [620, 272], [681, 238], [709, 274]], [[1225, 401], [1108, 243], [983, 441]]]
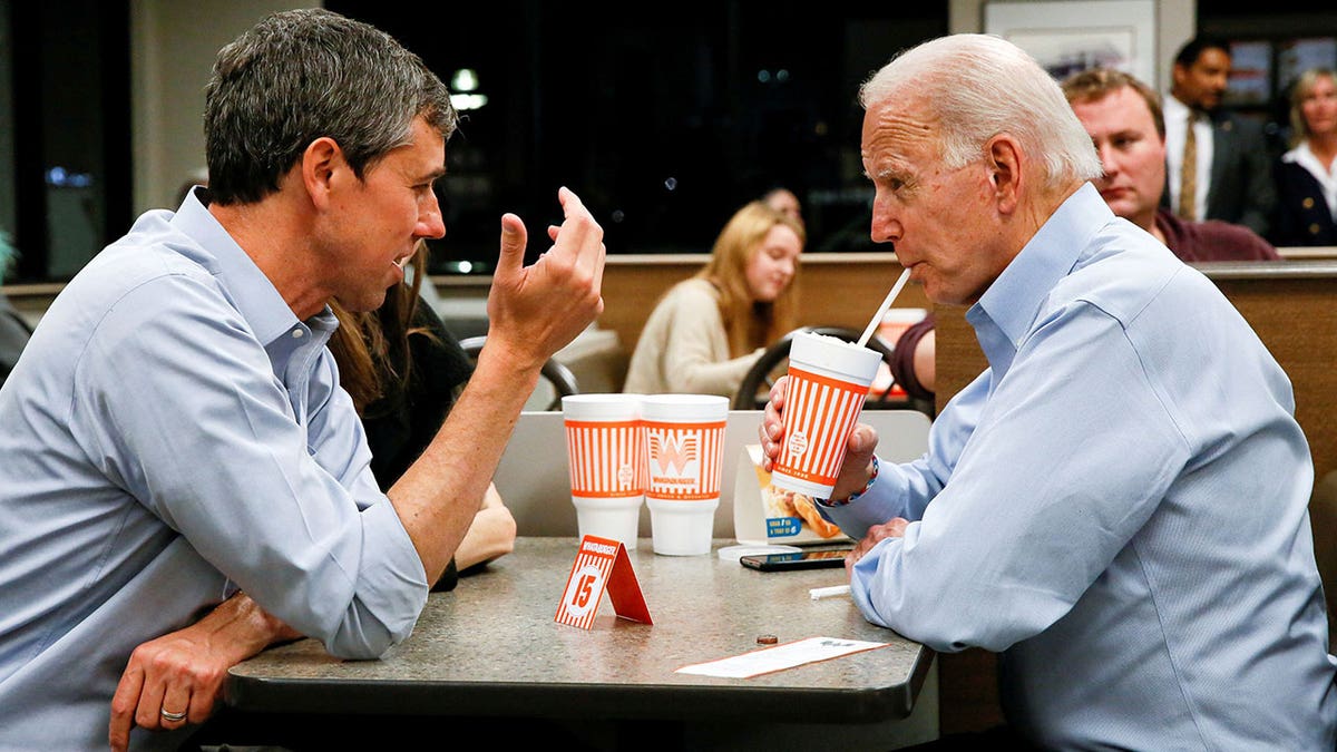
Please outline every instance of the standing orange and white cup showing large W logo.
[[646, 395], [646, 506], [656, 554], [709, 554], [723, 482], [729, 399]]

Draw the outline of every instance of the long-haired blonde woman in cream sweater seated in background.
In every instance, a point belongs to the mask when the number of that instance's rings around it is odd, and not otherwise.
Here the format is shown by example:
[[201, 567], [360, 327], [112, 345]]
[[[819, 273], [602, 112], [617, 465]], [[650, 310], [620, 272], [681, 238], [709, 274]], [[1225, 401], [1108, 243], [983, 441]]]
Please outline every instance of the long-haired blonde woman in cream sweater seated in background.
[[710, 262], [655, 305], [626, 392], [734, 396], [766, 345], [794, 328], [802, 223], [753, 201], [715, 240]]

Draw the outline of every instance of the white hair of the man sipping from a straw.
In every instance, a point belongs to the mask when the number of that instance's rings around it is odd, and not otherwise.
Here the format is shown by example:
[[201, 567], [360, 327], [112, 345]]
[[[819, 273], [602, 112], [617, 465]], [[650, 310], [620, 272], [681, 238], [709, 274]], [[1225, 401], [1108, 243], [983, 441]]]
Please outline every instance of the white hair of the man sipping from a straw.
[[1046, 190], [1102, 174], [1091, 135], [1054, 76], [997, 36], [957, 33], [904, 51], [864, 82], [858, 100], [869, 110], [906, 90], [940, 124], [948, 169], [979, 159], [988, 139], [1008, 132], [1042, 161]]

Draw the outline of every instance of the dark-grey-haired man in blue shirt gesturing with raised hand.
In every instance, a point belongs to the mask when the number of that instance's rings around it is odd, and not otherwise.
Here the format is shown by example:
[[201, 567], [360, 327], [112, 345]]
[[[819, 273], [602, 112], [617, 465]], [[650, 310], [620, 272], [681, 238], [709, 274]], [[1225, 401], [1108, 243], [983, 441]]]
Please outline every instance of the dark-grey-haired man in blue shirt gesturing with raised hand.
[[444, 236], [455, 124], [416, 55], [332, 12], [219, 52], [209, 189], [98, 254], [0, 388], [0, 748], [91, 749], [108, 728], [114, 749], [171, 748], [269, 641], [373, 658], [410, 633], [543, 363], [603, 306], [603, 231], [574, 193], [532, 266], [501, 217], [488, 345], [380, 492], [326, 304], [377, 308]]

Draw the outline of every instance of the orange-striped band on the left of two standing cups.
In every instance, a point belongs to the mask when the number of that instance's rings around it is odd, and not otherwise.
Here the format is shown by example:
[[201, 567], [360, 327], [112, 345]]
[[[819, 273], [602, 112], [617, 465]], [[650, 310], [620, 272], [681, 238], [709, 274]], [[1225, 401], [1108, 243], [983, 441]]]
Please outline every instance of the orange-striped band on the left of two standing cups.
[[566, 420], [571, 495], [594, 499], [639, 496], [642, 428], [639, 420]]

